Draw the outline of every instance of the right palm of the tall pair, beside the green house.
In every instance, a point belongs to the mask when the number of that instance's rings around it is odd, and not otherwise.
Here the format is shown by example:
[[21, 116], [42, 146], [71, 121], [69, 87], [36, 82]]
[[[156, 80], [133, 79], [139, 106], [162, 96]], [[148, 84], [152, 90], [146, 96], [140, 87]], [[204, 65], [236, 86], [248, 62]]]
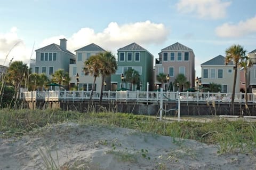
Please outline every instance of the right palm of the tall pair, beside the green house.
[[111, 52], [99, 53], [99, 58], [101, 61], [101, 67], [99, 68], [99, 74], [101, 75], [101, 90], [100, 90], [100, 103], [102, 102], [103, 85], [105, 77], [111, 74], [115, 74], [117, 70], [117, 62], [115, 56]]

